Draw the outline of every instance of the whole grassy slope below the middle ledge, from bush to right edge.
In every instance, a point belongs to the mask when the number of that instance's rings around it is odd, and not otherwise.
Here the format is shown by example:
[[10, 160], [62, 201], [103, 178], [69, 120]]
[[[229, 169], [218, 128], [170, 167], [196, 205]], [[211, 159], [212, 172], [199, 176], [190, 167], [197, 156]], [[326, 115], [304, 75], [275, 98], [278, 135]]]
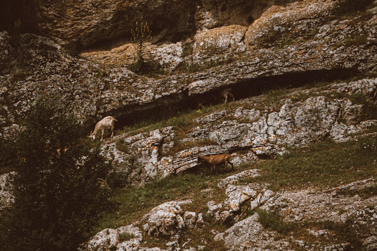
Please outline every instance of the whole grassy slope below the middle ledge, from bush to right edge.
[[[115, 193], [114, 199], [120, 204], [116, 213], [108, 214], [99, 222], [93, 233], [106, 227], [116, 228], [139, 220], [153, 207], [170, 200], [192, 199], [191, 205], [184, 210], [205, 213], [207, 202], [225, 199], [224, 191], [217, 188], [217, 183], [234, 173], [246, 169], [260, 169], [261, 177], [245, 179], [240, 183], [269, 183], [272, 190], [300, 189], [313, 187], [327, 189], [328, 187], [346, 184], [377, 175], [377, 138], [366, 138], [358, 142], [336, 144], [331, 140], [316, 143], [304, 149], [292, 149], [291, 154], [263, 160], [253, 165], [244, 165], [235, 171], [225, 171], [224, 167], [218, 173], [211, 175], [208, 167], [201, 167], [191, 173], [170, 176], [154, 181], [140, 188], [123, 188]], [[212, 195], [202, 190], [211, 188]], [[373, 189], [373, 188], [372, 188]], [[370, 193], [370, 191], [367, 191]], [[376, 191], [371, 191], [373, 194]], [[283, 223], [278, 223], [287, 228]], [[289, 229], [301, 229], [302, 225], [289, 225]], [[204, 229], [190, 230], [187, 236], [193, 241], [204, 238], [208, 245], [222, 249], [221, 243], [213, 241], [211, 229], [224, 230], [224, 225], [210, 222]], [[281, 231], [287, 234], [288, 231]], [[162, 245], [166, 240], [147, 239], [147, 245]], [[196, 243], [201, 244], [201, 243]], [[163, 245], [161, 246], [163, 247]]]

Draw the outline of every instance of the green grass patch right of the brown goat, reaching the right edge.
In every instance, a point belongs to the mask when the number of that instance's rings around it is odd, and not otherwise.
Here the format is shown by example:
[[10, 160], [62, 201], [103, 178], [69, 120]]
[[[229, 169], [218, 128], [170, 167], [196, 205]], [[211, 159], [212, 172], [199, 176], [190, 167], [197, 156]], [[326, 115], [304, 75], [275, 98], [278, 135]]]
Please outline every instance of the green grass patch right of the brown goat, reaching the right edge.
[[[258, 164], [261, 176], [255, 178], [269, 183], [270, 188], [304, 188], [309, 186], [337, 186], [376, 175], [377, 154], [371, 149], [377, 138], [364, 142], [336, 144], [325, 140], [304, 149], [293, 149], [291, 154], [275, 157]], [[373, 145], [374, 144], [374, 145]], [[373, 164], [374, 163], [374, 164]]]

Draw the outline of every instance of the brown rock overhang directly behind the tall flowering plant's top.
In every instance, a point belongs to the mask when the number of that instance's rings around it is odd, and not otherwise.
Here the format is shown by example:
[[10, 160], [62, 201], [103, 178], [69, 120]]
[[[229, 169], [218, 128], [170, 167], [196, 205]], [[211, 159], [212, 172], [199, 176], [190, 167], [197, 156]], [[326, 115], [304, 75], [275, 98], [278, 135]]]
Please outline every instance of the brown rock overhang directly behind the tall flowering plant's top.
[[[129, 39], [142, 17], [164, 40], [190, 35], [194, 9], [190, 1], [36, 2], [38, 30], [69, 47], [85, 48], [111, 39]], [[54, 22], [52, 22], [54, 20]]]

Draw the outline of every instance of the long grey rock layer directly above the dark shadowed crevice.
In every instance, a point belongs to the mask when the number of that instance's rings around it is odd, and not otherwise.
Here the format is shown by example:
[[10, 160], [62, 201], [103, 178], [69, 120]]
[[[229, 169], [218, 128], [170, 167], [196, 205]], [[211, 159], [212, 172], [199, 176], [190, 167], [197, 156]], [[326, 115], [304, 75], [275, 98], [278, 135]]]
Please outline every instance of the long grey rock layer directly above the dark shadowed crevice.
[[[317, 3], [315, 0], [312, 2], [314, 5]], [[375, 7], [373, 5], [371, 8]], [[287, 17], [294, 6], [292, 4], [285, 9]], [[329, 1], [326, 1], [325, 6], [333, 8]], [[334, 11], [331, 9], [331, 12]], [[4, 59], [2, 62], [6, 63], [0, 67], [0, 83], [7, 90], [6, 95], [0, 93], [0, 102], [8, 107], [8, 111], [4, 109], [1, 112], [3, 119], [0, 118], [0, 121], [5, 121], [1, 127], [16, 123], [18, 118], [24, 116], [37, 98], [36, 93], [61, 96], [61, 102], [74, 108], [82, 121], [92, 123], [104, 113], [124, 118], [132, 112], [161, 105], [163, 100], [176, 102], [187, 95], [205, 93], [260, 77], [315, 70], [375, 72], [377, 31], [374, 22], [377, 16], [371, 10], [366, 13], [354, 13], [353, 19], [334, 19], [317, 27], [317, 35], [305, 42], [267, 49], [257, 47], [244, 52], [242, 57], [227, 65], [159, 79], [142, 79], [122, 67], [104, 71], [90, 62], [69, 56], [61, 46], [47, 38], [23, 34], [14, 39], [3, 33], [0, 36], [0, 54]], [[295, 20], [295, 15], [291, 16]], [[270, 19], [273, 17], [266, 18], [265, 22], [268, 23]], [[313, 24], [318, 25], [316, 22]], [[268, 30], [264, 33], [267, 35]], [[103, 31], [101, 36], [104, 36]], [[286, 42], [284, 39], [276, 41]]]

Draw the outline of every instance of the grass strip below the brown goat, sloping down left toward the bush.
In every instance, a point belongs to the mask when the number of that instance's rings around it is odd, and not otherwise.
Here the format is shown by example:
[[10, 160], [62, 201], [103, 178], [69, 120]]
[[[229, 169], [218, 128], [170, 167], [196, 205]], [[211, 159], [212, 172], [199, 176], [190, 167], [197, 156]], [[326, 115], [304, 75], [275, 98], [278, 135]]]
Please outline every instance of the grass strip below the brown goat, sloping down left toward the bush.
[[[216, 198], [221, 201], [225, 196], [224, 192], [220, 192], [217, 188], [218, 181], [239, 171], [239, 169], [232, 173], [219, 171], [218, 167], [218, 173], [211, 174], [210, 168], [202, 167], [192, 170], [192, 173], [180, 173], [154, 180], [142, 187], [118, 189], [113, 197], [118, 204], [116, 213], [105, 215], [93, 229], [93, 233], [104, 228], [117, 228], [130, 224], [153, 207], [166, 201], [192, 199], [193, 203], [185, 205], [185, 210], [196, 212], [204, 210], [208, 201]], [[214, 189], [213, 196], [201, 193], [201, 190], [208, 187]]]

